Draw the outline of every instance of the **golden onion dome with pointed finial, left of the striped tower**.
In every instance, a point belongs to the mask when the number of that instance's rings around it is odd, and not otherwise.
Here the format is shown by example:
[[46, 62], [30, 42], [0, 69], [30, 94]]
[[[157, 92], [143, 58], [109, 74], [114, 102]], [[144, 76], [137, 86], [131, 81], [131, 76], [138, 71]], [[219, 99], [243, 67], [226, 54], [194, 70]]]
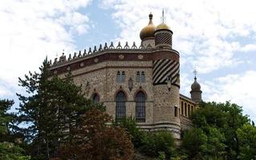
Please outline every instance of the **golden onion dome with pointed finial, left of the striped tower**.
[[150, 13], [148, 15], [149, 17], [149, 22], [148, 26], [145, 26], [141, 31], [140, 31], [140, 39], [143, 41], [145, 38], [150, 38], [154, 37], [154, 32], [156, 30], [156, 26], [154, 26], [152, 22], [152, 17], [153, 15]]

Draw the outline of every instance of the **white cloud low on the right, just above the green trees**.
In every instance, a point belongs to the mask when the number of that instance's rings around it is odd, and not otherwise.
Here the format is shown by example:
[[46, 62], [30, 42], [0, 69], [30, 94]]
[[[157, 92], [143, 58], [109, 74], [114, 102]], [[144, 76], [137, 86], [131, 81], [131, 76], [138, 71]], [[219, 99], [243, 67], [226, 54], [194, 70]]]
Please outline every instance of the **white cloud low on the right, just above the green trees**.
[[201, 84], [203, 95], [207, 101], [231, 102], [243, 106], [246, 114], [256, 120], [256, 71], [249, 70], [244, 74], [228, 74], [216, 78], [212, 82]]

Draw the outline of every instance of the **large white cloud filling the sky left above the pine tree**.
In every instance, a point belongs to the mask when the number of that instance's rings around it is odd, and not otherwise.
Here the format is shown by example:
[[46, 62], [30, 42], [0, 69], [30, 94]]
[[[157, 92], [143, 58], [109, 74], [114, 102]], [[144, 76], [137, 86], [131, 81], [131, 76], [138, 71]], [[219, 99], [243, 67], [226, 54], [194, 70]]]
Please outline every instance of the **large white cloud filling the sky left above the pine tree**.
[[18, 77], [37, 70], [43, 59], [75, 50], [75, 34], [87, 32], [79, 9], [91, 0], [2, 0], [0, 2], [0, 96], [17, 87]]

